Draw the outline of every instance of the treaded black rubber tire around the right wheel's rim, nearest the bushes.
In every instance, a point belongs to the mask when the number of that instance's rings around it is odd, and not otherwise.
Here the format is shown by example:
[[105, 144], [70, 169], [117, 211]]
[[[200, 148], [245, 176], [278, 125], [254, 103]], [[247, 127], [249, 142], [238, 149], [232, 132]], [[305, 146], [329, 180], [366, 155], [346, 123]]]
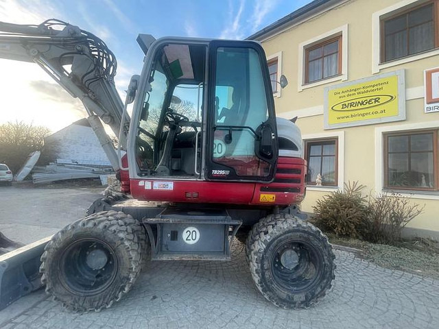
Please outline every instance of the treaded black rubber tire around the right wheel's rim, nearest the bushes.
[[[274, 250], [282, 243], [306, 241], [317, 252], [321, 271], [306, 290], [283, 289], [272, 271]], [[287, 214], [270, 215], [254, 224], [246, 241], [246, 256], [250, 272], [262, 295], [282, 308], [307, 308], [322, 298], [335, 278], [335, 255], [327, 236], [307, 221]]]

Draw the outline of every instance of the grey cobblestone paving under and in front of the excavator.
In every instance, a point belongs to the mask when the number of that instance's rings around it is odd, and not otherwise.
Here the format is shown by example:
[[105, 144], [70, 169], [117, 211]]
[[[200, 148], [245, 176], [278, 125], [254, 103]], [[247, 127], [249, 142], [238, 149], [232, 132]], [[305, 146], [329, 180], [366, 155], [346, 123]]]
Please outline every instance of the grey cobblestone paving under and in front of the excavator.
[[39, 291], [39, 302], [0, 328], [439, 328], [437, 280], [337, 250], [327, 296], [283, 310], [254, 288], [242, 249], [224, 263], [150, 262], [132, 291], [101, 313], [69, 313]]

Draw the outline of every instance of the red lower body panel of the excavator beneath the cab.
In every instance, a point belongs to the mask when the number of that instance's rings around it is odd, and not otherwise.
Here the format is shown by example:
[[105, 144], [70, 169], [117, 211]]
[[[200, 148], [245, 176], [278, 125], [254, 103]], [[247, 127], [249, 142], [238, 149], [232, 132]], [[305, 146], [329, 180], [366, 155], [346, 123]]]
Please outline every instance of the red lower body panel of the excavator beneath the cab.
[[[130, 192], [139, 200], [215, 204], [289, 205], [305, 197], [307, 166], [301, 158], [278, 158], [274, 182], [210, 182], [197, 180], [132, 179]], [[121, 171], [121, 179], [128, 171]], [[289, 182], [278, 182], [278, 180]], [[122, 187], [126, 186], [122, 181]], [[266, 191], [265, 191], [266, 190]]]

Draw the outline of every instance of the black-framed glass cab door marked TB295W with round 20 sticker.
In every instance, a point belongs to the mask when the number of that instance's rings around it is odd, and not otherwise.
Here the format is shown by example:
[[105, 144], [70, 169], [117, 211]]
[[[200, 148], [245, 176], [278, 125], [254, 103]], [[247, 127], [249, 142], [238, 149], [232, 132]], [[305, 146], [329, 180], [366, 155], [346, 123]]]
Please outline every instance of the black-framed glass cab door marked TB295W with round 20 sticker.
[[269, 182], [278, 155], [265, 53], [250, 41], [209, 45], [206, 179]]

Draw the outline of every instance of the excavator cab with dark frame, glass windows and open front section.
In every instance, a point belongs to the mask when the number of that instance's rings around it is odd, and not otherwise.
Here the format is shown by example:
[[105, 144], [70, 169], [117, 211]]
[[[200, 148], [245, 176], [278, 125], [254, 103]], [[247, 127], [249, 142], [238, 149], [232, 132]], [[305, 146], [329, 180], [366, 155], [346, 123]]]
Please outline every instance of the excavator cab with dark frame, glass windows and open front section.
[[131, 178], [273, 179], [276, 117], [257, 42], [157, 40], [137, 95]]

